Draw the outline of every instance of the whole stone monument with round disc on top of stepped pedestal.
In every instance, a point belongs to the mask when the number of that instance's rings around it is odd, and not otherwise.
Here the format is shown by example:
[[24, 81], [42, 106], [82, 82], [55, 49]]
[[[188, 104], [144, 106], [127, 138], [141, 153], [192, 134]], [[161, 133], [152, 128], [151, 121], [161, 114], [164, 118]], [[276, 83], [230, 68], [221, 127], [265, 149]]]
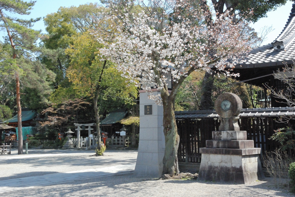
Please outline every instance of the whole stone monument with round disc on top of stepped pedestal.
[[212, 131], [213, 140], [207, 140], [206, 148], [200, 148], [198, 180], [249, 184], [264, 178], [261, 148], [254, 148], [254, 141], [247, 140], [247, 132], [239, 131], [241, 109], [242, 101], [233, 93], [224, 93], [216, 99], [219, 131]]

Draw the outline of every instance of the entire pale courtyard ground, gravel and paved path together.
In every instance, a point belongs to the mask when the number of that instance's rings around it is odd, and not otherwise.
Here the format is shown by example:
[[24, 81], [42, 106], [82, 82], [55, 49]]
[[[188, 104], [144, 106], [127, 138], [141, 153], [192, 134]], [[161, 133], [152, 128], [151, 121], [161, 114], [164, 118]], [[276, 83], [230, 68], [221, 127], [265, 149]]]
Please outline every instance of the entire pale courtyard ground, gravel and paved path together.
[[[5, 197], [294, 197], [266, 178], [250, 185], [135, 177], [137, 151], [29, 150], [0, 155]], [[115, 175], [115, 176], [114, 176]]]

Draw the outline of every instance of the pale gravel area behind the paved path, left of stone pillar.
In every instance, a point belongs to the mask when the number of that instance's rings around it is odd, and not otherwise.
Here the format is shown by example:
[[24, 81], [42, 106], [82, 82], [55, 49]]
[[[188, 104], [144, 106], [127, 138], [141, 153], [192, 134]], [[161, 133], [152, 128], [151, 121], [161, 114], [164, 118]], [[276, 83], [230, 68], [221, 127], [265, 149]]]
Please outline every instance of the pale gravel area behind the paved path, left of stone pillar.
[[136, 163], [137, 151], [108, 150], [104, 157], [89, 157], [94, 150], [29, 149], [28, 155], [0, 155], [0, 180], [69, 172], [102, 166]]

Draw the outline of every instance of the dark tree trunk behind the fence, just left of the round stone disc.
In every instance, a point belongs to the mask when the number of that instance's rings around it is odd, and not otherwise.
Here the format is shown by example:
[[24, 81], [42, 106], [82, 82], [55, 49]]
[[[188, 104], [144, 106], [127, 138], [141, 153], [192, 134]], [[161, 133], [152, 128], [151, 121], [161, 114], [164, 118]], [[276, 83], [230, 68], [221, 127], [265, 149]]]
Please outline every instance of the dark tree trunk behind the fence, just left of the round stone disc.
[[202, 96], [200, 102], [200, 110], [213, 109], [212, 89], [214, 77], [212, 74], [206, 72], [202, 83]]

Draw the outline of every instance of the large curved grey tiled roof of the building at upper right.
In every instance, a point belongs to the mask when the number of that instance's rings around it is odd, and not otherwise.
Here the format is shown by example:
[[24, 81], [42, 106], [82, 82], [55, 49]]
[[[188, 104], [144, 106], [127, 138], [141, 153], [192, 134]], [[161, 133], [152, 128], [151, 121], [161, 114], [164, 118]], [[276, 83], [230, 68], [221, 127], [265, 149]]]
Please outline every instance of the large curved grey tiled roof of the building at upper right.
[[[265, 67], [283, 65], [283, 62], [292, 64], [295, 58], [295, 3], [292, 4], [292, 10], [286, 26], [280, 35], [271, 43], [262, 47], [253, 49], [247, 62], [240, 68]], [[284, 48], [275, 49], [274, 46], [280, 43]], [[236, 66], [236, 68], [239, 68]]]

